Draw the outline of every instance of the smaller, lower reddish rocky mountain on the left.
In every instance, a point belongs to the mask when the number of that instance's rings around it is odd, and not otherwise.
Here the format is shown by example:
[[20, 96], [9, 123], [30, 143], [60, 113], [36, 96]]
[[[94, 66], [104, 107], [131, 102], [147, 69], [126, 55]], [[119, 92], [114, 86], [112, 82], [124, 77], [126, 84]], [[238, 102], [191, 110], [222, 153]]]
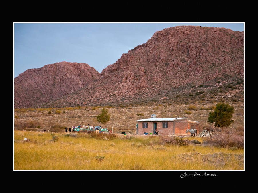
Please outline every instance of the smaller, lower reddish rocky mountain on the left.
[[26, 70], [14, 79], [14, 108], [36, 107], [56, 100], [99, 77], [100, 73], [85, 63], [60, 62]]

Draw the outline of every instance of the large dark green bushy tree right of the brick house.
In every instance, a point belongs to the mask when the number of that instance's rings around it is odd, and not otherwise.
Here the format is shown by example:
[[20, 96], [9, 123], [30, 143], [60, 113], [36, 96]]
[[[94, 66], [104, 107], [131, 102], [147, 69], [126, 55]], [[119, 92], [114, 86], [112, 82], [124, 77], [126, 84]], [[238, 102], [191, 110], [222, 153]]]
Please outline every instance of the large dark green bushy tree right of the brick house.
[[207, 122], [215, 122], [216, 127], [228, 127], [234, 122], [234, 120], [231, 120], [233, 113], [233, 106], [225, 104], [224, 102], [218, 103], [215, 110], [209, 113]]

